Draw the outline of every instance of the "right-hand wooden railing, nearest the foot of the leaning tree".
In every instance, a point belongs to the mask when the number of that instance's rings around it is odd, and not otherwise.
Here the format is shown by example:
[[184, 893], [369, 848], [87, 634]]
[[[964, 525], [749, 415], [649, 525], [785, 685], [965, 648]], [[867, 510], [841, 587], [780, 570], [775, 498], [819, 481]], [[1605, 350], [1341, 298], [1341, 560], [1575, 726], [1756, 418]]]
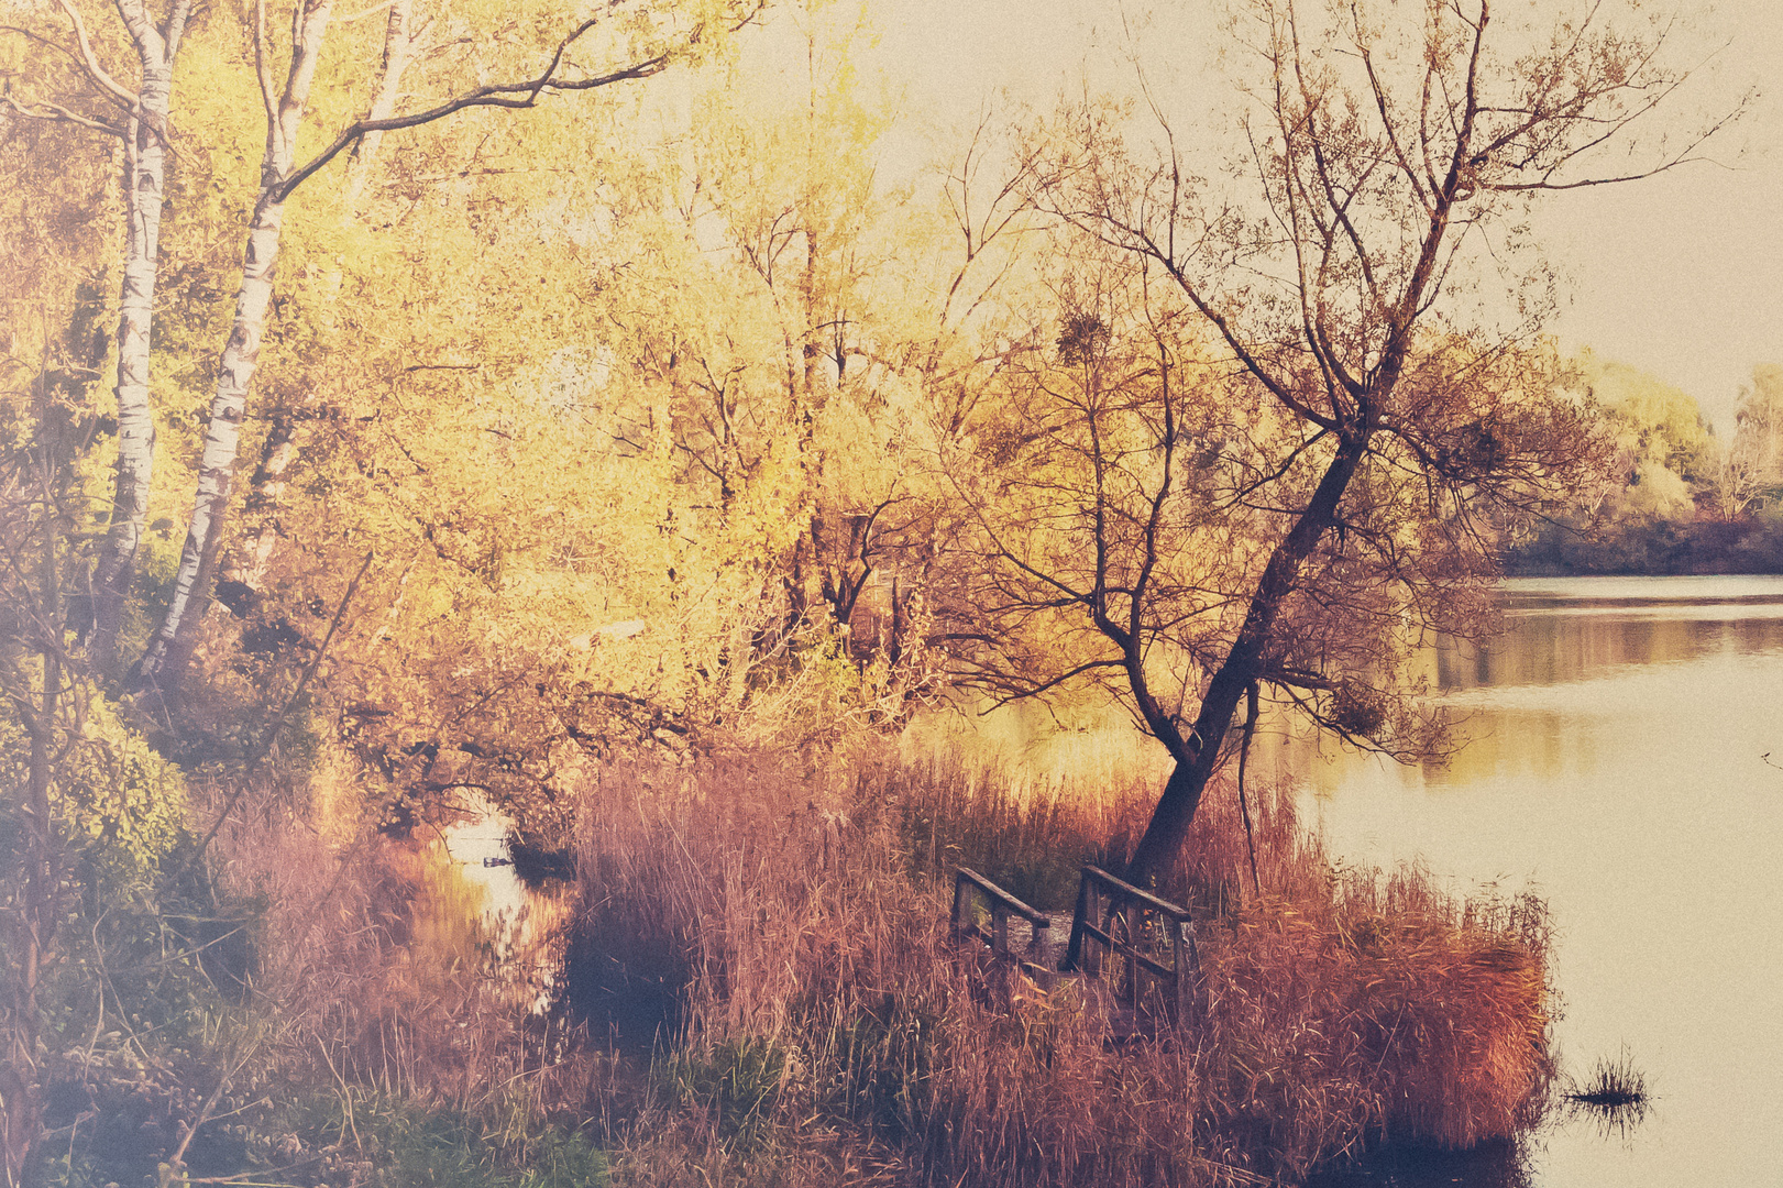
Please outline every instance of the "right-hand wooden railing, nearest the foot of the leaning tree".
[[[1166, 933], [1163, 944], [1143, 944], [1143, 938], [1155, 936], [1154, 926], [1161, 926]], [[1072, 919], [1072, 942], [1064, 953], [1063, 969], [1100, 972], [1102, 953], [1086, 953], [1088, 942], [1102, 945], [1109, 956], [1127, 960], [1127, 976], [1120, 986], [1130, 1006], [1138, 1008], [1139, 1004], [1139, 970], [1143, 969], [1164, 985], [1179, 1024], [1195, 1017], [1202, 963], [1195, 949], [1195, 920], [1186, 910], [1143, 892], [1100, 867], [1086, 865], [1082, 881], [1077, 885], [1077, 912]], [[1171, 954], [1170, 965], [1163, 965], [1152, 956], [1164, 949]]]

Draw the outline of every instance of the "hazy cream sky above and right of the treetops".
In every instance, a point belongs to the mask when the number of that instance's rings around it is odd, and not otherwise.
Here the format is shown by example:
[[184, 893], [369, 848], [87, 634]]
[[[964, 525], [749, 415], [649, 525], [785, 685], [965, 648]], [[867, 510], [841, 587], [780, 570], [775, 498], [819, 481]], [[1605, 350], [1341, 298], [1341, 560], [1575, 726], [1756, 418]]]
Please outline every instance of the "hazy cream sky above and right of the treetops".
[[[1405, 2], [1405, 0], [1401, 0]], [[1218, 107], [1218, 23], [1207, 0], [1146, 11], [1143, 0], [868, 0], [884, 70], [920, 118], [970, 120], [998, 96], [1039, 109], [1064, 87], [1132, 91], [1127, 45], [1171, 107]], [[1407, 2], [1407, 7], [1416, 7]], [[1560, 0], [1500, 0], [1558, 12]], [[1658, 5], [1647, 5], [1658, 7]], [[1694, 396], [1730, 433], [1753, 364], [1783, 362], [1783, 4], [1676, 4], [1676, 45], [1701, 61], [1674, 103], [1699, 120], [1756, 100], [1708, 148], [1713, 162], [1639, 184], [1555, 194], [1535, 234], [1562, 276], [1551, 326], [1565, 350], [1647, 371]], [[1125, 29], [1138, 29], [1129, 41]], [[936, 116], [936, 112], [943, 112]], [[1193, 114], [1193, 112], [1191, 112]]]

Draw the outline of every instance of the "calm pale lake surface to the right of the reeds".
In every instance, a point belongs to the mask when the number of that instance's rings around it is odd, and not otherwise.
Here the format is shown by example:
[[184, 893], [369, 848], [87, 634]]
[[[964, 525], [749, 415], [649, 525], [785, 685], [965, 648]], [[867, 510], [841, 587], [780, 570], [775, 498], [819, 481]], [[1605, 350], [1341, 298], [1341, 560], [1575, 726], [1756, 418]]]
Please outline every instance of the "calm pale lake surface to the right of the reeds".
[[[1783, 578], [1516, 580], [1503, 599], [1505, 637], [1426, 658], [1466, 715], [1448, 767], [1307, 742], [1277, 767], [1343, 858], [1548, 899], [1562, 1065], [1626, 1047], [1655, 1102], [1624, 1136], [1549, 1127], [1508, 1179], [1783, 1188]], [[1428, 1183], [1501, 1184], [1503, 1163]]]

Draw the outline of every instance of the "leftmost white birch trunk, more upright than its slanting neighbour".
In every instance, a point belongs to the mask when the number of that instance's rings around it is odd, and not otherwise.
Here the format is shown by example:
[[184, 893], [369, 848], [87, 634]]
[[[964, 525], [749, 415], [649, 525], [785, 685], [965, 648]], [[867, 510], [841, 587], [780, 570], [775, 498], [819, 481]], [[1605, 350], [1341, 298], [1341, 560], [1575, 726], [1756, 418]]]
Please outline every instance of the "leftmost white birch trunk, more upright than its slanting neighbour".
[[148, 521], [155, 471], [155, 417], [148, 396], [150, 323], [166, 193], [168, 118], [173, 111], [173, 59], [185, 32], [189, 0], [175, 0], [164, 29], [155, 29], [144, 0], [119, 0], [143, 66], [136, 112], [125, 130], [125, 268], [118, 301], [118, 464], [111, 524], [93, 573], [91, 655], [111, 669], [125, 599], [136, 580], [136, 553]]

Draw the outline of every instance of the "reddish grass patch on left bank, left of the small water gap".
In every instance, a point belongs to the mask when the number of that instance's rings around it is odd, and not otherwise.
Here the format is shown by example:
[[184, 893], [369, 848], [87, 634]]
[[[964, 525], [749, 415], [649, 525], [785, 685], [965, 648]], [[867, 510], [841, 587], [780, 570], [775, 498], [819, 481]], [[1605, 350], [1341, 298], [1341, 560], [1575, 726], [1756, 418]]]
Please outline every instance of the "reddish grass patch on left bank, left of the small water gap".
[[383, 1158], [426, 1147], [403, 1134], [428, 1113], [474, 1129], [453, 1159], [558, 1151], [547, 1122], [581, 1110], [601, 1058], [530, 1011], [537, 986], [501, 967], [514, 954], [481, 888], [426, 831], [390, 837], [369, 819], [328, 835], [305, 824], [317, 815], [251, 794], [218, 838], [230, 890], [264, 904], [251, 997], [264, 1026], [237, 1079], [326, 1102], [339, 1145]]

